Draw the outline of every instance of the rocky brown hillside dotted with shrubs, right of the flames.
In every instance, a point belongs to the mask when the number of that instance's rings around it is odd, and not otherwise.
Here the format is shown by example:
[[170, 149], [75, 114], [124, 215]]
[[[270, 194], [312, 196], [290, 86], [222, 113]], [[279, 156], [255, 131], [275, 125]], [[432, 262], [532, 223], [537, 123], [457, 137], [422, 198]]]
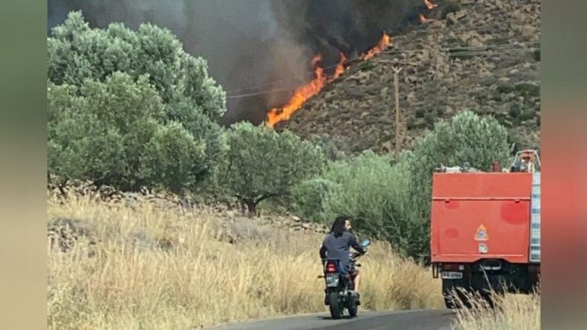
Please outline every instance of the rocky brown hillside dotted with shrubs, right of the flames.
[[275, 129], [343, 137], [354, 152], [393, 150], [397, 60], [403, 147], [464, 109], [495, 116], [518, 147], [539, 147], [540, 10], [538, 0], [443, 1]]

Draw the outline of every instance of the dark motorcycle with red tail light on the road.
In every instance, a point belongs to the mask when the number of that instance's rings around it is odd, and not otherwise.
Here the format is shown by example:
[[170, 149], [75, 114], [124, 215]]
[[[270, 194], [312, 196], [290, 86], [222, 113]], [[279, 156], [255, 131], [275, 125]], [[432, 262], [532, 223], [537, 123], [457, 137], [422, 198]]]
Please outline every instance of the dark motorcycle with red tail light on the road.
[[[361, 243], [363, 249], [371, 244], [369, 240], [364, 240]], [[360, 267], [357, 264], [357, 260], [361, 257], [356, 252], [350, 253], [350, 262], [354, 267]], [[325, 278], [326, 283], [326, 301], [325, 305], [329, 306], [330, 316], [333, 319], [340, 319], [345, 312], [348, 310], [349, 316], [355, 317], [359, 309], [358, 302], [356, 301], [355, 295], [352, 294], [355, 289], [355, 283], [349, 272], [340, 264], [339, 260], [322, 260], [324, 275], [320, 275], [318, 278]]]

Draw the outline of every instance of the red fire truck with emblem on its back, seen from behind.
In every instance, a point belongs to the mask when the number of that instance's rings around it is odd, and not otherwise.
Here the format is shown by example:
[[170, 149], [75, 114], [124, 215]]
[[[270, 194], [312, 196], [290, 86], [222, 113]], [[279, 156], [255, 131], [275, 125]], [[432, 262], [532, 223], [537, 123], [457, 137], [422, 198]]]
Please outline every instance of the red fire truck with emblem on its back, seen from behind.
[[467, 292], [529, 293], [539, 282], [538, 153], [519, 151], [510, 169], [500, 167], [444, 167], [433, 175], [431, 262], [447, 308], [468, 305]]

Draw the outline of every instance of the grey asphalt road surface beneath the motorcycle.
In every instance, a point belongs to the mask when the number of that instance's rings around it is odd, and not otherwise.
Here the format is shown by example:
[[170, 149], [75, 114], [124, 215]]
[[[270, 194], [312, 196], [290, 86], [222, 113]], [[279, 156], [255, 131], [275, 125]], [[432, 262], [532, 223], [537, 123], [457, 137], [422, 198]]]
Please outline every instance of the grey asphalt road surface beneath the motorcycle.
[[289, 316], [263, 321], [221, 325], [210, 330], [450, 330], [454, 312], [449, 309], [361, 312], [356, 318], [334, 320], [330, 314]]

